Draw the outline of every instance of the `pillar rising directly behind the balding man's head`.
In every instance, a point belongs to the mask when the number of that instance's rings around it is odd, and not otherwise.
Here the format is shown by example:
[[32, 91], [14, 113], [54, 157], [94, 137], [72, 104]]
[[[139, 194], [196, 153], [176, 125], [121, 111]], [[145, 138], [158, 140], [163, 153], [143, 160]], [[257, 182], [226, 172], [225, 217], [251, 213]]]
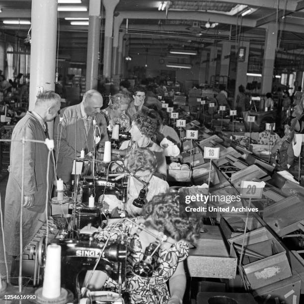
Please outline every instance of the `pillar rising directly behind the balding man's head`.
[[100, 44], [101, 0], [89, 1], [85, 90], [97, 89]]

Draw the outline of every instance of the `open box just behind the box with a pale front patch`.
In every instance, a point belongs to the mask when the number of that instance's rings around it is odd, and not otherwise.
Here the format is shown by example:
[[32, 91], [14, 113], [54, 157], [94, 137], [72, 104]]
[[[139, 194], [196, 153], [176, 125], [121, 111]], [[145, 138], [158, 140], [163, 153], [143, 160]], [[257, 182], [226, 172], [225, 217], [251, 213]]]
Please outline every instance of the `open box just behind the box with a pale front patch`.
[[[239, 220], [239, 222], [234, 221], [234, 225], [229, 223], [229, 219]], [[243, 234], [242, 231], [237, 231], [236, 227], [244, 228], [246, 222], [246, 216], [244, 214], [226, 214], [221, 216], [220, 227], [225, 238], [228, 240], [232, 237]], [[243, 225], [242, 225], [243, 224]], [[263, 225], [259, 222], [259, 220], [254, 215], [249, 215], [247, 222], [247, 231], [252, 231], [258, 228], [262, 228]]]

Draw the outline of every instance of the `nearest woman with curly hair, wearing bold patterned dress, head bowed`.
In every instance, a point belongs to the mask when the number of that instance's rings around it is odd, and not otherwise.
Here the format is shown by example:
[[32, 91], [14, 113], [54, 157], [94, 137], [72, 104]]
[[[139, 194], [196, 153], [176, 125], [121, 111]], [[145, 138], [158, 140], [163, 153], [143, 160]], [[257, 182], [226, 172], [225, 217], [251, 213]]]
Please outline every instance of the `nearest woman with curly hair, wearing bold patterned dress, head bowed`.
[[[126, 282], [123, 290], [128, 294], [131, 304], [157, 303], [181, 304], [186, 288], [186, 276], [183, 261], [189, 255], [189, 243], [195, 243], [199, 236], [199, 220], [195, 218], [180, 218], [178, 196], [164, 193], [154, 196], [143, 209], [143, 217], [135, 222], [144, 225], [153, 234], [163, 233], [166, 241], [161, 243], [153, 255], [152, 276], [143, 277], [135, 274], [134, 265], [143, 259], [145, 248], [155, 237], [127, 221], [110, 225], [95, 234], [95, 239], [106, 241], [117, 239], [123, 232], [129, 234], [127, 255]], [[90, 274], [90, 273], [89, 273]], [[86, 276], [89, 277], [89, 274]], [[169, 284], [169, 290], [167, 284]], [[117, 282], [107, 277], [104, 272], [95, 272], [88, 287], [100, 289], [102, 286], [117, 291]]]

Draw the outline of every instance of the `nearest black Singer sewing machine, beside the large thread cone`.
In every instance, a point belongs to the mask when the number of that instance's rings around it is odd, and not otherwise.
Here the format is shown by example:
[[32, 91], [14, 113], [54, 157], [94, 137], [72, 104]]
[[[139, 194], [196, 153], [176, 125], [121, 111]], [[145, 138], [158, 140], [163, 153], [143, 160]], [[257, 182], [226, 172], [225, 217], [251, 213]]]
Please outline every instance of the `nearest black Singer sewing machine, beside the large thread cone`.
[[54, 239], [52, 243], [61, 246], [61, 286], [74, 294], [79, 302], [80, 287], [78, 275], [92, 270], [100, 254], [102, 257], [96, 270], [104, 271], [113, 280], [123, 282], [126, 274], [127, 241], [123, 238], [111, 242], [103, 250], [104, 243], [77, 239]]

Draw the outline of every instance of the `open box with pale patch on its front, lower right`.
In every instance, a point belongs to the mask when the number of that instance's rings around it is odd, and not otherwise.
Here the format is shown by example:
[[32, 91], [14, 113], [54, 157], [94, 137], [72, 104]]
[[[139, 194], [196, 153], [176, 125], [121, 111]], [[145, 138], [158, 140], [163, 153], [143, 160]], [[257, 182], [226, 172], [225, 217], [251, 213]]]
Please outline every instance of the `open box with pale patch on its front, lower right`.
[[[243, 234], [228, 241], [231, 244], [230, 255], [239, 259], [240, 256], [233, 245], [242, 246]], [[245, 233], [244, 246], [265, 256], [264, 258], [243, 256], [239, 271], [243, 273], [245, 284], [251, 289], [261, 288], [292, 276], [286, 250], [267, 228], [263, 227]]]

